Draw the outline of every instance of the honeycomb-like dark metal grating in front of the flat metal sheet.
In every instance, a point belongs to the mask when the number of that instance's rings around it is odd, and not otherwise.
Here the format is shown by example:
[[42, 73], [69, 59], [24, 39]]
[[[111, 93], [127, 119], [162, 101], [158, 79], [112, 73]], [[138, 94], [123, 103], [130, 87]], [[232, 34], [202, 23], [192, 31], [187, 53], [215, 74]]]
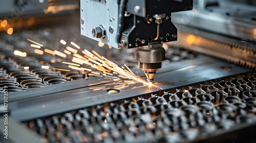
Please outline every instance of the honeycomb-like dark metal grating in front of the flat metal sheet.
[[253, 141], [254, 76], [246, 73], [175, 87], [34, 118], [23, 125], [49, 142]]

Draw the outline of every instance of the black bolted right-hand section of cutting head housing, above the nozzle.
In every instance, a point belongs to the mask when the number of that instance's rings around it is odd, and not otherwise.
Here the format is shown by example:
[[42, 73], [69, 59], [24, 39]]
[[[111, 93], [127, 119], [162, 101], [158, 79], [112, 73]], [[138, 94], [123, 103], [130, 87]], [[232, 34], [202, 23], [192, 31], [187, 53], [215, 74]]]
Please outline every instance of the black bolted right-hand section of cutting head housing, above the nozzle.
[[127, 16], [118, 23], [124, 25], [119, 42], [126, 48], [176, 41], [171, 13], [193, 9], [193, 1], [128, 1], [126, 5]]

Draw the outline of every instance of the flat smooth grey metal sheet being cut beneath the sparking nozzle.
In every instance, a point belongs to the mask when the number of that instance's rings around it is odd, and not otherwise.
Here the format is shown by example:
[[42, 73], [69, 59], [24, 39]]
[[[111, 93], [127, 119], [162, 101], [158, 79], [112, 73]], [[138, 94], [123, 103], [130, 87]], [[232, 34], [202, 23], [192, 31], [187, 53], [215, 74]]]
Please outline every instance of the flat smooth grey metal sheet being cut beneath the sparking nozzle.
[[[231, 66], [232, 70], [223, 71], [220, 68], [223, 65]], [[65, 111], [67, 112], [70, 110], [108, 103], [111, 101], [118, 101], [145, 94], [161, 92], [180, 86], [200, 83], [205, 80], [232, 76], [250, 71], [252, 70], [236, 65], [229, 65], [226, 62], [202, 56], [194, 60], [185, 60], [174, 64], [164, 65], [164, 67], [160, 69], [156, 75], [156, 86], [148, 87], [147, 85], [136, 83], [130, 86], [119, 88], [119, 93], [109, 93], [106, 90], [100, 88], [102, 88], [102, 86], [106, 86], [105, 88], [113, 88], [114, 86], [102, 84], [68, 90], [65, 92], [55, 92], [45, 96], [30, 98], [26, 100], [14, 101], [9, 104], [9, 109], [11, 110], [11, 115], [14, 118], [19, 121], [26, 121], [36, 117], [48, 116], [55, 113]], [[139, 73], [139, 75], [141, 74], [143, 74], [143, 72]], [[74, 83], [73, 87], [76, 86], [78, 85]], [[44, 90], [44, 88], [45, 87], [42, 87], [40, 90]], [[51, 87], [46, 88], [49, 89]], [[99, 90], [95, 90], [97, 88]], [[54, 90], [54, 88], [49, 90]], [[30, 92], [27, 94], [33, 93]]]

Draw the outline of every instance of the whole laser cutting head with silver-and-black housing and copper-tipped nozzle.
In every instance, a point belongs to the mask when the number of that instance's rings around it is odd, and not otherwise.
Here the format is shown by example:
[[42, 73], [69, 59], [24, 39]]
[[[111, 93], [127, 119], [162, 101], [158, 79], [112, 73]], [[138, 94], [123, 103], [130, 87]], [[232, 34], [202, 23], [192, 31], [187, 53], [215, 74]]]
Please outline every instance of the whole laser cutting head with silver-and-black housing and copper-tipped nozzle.
[[165, 59], [162, 43], [177, 40], [171, 14], [193, 9], [193, 0], [80, 1], [80, 6], [81, 35], [116, 48], [137, 47], [135, 59], [153, 82]]

